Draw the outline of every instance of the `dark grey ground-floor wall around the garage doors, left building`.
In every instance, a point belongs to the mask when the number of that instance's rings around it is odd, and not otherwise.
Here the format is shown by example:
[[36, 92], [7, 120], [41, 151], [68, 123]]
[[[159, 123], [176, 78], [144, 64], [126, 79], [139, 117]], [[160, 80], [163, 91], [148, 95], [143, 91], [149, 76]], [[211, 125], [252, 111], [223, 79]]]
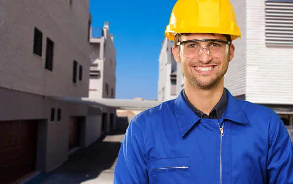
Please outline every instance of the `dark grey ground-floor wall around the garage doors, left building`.
[[[38, 156], [37, 169], [49, 171], [62, 164], [68, 157], [68, 135], [70, 116], [87, 116], [87, 106], [52, 100], [48, 97], [17, 92], [0, 88], [0, 121], [9, 120], [39, 120], [38, 131]], [[7, 105], [9, 104], [9, 105]], [[50, 121], [51, 108], [61, 109], [61, 121]], [[95, 131], [100, 120], [96, 117], [89, 123], [84, 122], [86, 129]], [[82, 132], [84, 135], [85, 132]], [[86, 131], [86, 136], [81, 137], [81, 145], [85, 147], [99, 137], [99, 129], [96, 133]]]

